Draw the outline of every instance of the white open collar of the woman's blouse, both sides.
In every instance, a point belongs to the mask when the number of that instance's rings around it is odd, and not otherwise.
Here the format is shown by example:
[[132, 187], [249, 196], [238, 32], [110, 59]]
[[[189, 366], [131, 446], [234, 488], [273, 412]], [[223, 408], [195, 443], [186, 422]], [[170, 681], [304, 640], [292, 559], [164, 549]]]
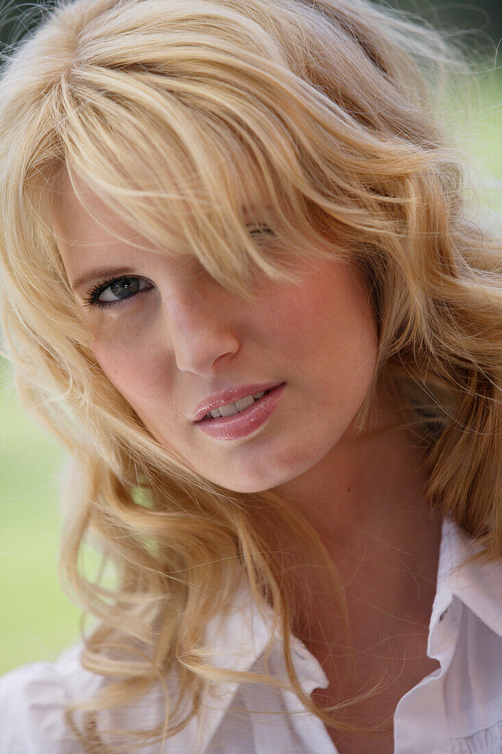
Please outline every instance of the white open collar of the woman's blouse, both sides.
[[[498, 636], [502, 636], [500, 623], [502, 563], [470, 564], [453, 572], [477, 550], [479, 550], [479, 544], [456, 526], [453, 520], [444, 516], [439, 545], [436, 596], [429, 627], [429, 646], [431, 643], [433, 645], [434, 639], [441, 634], [442, 649], [446, 648], [445, 654], [441, 657], [442, 672], [451, 659], [458, 636], [459, 617], [451, 615], [451, 613], [455, 614], [455, 611], [449, 611], [455, 596]], [[442, 623], [448, 611], [450, 612], [448, 621]], [[452, 627], [453, 630], [451, 630]], [[217, 667], [249, 671], [265, 651], [271, 636], [274, 642], [272, 651], [282, 652], [280, 630], [278, 627], [275, 631], [272, 629], [271, 608], [266, 604], [261, 606], [256, 604], [246, 579], [242, 578], [228, 611], [207, 624], [204, 636], [207, 646], [215, 651], [212, 661]], [[291, 647], [292, 661], [304, 691], [310, 694], [314, 688], [326, 688], [329, 681], [314, 655], [295, 636], [291, 637]], [[432, 656], [430, 651], [427, 651], [427, 654]], [[239, 685], [239, 682], [223, 684], [223, 688], [219, 689], [218, 705], [215, 707], [210, 704], [210, 713], [204, 717], [204, 720], [200, 720], [198, 739], [200, 751], [205, 750], [205, 746], [222, 722]]]

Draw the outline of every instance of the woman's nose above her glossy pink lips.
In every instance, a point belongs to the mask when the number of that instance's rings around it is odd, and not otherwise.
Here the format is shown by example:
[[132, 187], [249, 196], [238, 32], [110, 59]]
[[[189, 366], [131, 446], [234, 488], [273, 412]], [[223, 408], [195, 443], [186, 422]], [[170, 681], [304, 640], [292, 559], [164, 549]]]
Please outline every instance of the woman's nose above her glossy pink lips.
[[[225, 299], [225, 300], [223, 300]], [[216, 362], [240, 348], [236, 333], [235, 296], [219, 296], [214, 286], [193, 284], [171, 290], [164, 304], [164, 333], [169, 333], [176, 366], [182, 372], [211, 375]], [[240, 302], [242, 305], [242, 302]]]

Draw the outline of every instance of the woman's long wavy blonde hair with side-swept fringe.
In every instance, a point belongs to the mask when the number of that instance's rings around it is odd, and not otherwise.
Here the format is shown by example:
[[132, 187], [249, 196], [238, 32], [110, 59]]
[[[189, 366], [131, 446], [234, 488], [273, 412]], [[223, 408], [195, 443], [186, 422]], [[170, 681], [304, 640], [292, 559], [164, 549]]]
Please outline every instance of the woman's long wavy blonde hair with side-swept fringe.
[[[276, 516], [285, 529], [308, 532], [313, 559], [340, 594], [350, 645], [338, 576], [314, 530], [271, 491], [237, 494], [200, 477], [155, 442], [99, 369], [57, 251], [60, 176], [67, 170], [77, 192], [83, 176], [155, 247], [190, 250], [247, 300], [253, 270], [294, 280], [306, 249], [360, 265], [379, 342], [355, 423], [383, 380], [424, 445], [431, 507], [478, 541], [479, 557], [498, 559], [502, 256], [470, 217], [463, 163], [431, 115], [428, 79], [452, 65], [467, 71], [438, 33], [366, 0], [60, 0], [6, 60], [5, 351], [23, 402], [74, 459], [61, 575], [99, 621], [82, 664], [119, 679], [68, 706], [86, 751], [164, 741], [214, 683], [284, 687], [210, 663], [204, 627], [242, 575], [256, 604], [271, 604], [289, 683], [307, 709], [339, 730], [363, 728], [344, 718], [354, 700], [321, 708], [299, 685], [292, 590], [259, 522]], [[246, 230], [236, 189], [250, 184], [268, 202], [264, 219], [284, 241], [280, 253]], [[297, 246], [302, 238], [315, 244]], [[112, 563], [114, 588], [81, 572], [85, 541]], [[176, 670], [179, 691], [172, 700], [165, 688], [164, 725], [97, 731], [100, 711], [164, 684], [167, 670]], [[81, 728], [75, 710], [86, 711]], [[126, 743], [106, 743], [106, 732]]]

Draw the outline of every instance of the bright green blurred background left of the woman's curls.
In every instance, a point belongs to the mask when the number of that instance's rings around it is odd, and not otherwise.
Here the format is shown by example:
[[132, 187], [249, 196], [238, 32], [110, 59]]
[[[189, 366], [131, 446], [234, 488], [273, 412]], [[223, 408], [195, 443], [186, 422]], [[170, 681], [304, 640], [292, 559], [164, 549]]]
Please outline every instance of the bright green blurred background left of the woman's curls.
[[20, 406], [2, 365], [0, 392], [0, 673], [54, 657], [78, 635], [79, 611], [57, 579], [63, 452]]

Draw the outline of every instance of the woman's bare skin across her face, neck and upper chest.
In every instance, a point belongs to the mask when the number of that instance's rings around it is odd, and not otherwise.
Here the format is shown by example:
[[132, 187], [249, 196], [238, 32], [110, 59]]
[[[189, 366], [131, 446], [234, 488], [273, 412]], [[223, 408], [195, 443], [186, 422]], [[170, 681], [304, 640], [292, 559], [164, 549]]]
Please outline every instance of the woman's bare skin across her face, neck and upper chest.
[[[391, 712], [409, 688], [439, 667], [425, 649], [440, 521], [424, 498], [421, 452], [396, 428], [397, 409], [384, 386], [376, 391], [365, 434], [353, 437], [378, 348], [363, 278], [352, 266], [315, 262], [303, 265], [300, 286], [264, 276], [258, 299], [248, 304], [223, 290], [195, 259], [180, 263], [136, 249], [133, 242], [145, 239], [84, 183], [80, 190], [85, 207], [69, 179], [63, 182], [55, 217], [58, 247], [103, 372], [152, 435], [203, 477], [236, 492], [275, 490], [308, 516], [344, 578], [350, 615], [357, 616], [357, 647], [385, 667], [389, 653], [406, 656], [390, 691], [350, 712], [366, 723], [370, 713]], [[95, 218], [131, 244], [118, 241]], [[252, 219], [259, 222], [259, 216]], [[145, 278], [152, 287], [107, 308], [84, 307], [86, 291], [101, 280], [93, 277], [81, 286], [75, 281], [103, 265], [115, 268], [117, 277], [127, 266], [129, 277]], [[246, 382], [286, 382], [282, 400], [259, 431], [223, 441], [194, 425], [191, 414], [200, 400]], [[301, 542], [290, 544], [301, 561]], [[314, 572], [309, 578], [315, 618], [298, 615], [298, 633], [330, 681], [313, 696], [330, 700], [368, 688], [369, 680], [378, 680], [371, 664], [341, 685], [343, 660], [329, 656], [340, 642], [334, 608], [322, 579]], [[329, 734], [344, 754], [392, 751], [391, 731], [376, 741]]]

